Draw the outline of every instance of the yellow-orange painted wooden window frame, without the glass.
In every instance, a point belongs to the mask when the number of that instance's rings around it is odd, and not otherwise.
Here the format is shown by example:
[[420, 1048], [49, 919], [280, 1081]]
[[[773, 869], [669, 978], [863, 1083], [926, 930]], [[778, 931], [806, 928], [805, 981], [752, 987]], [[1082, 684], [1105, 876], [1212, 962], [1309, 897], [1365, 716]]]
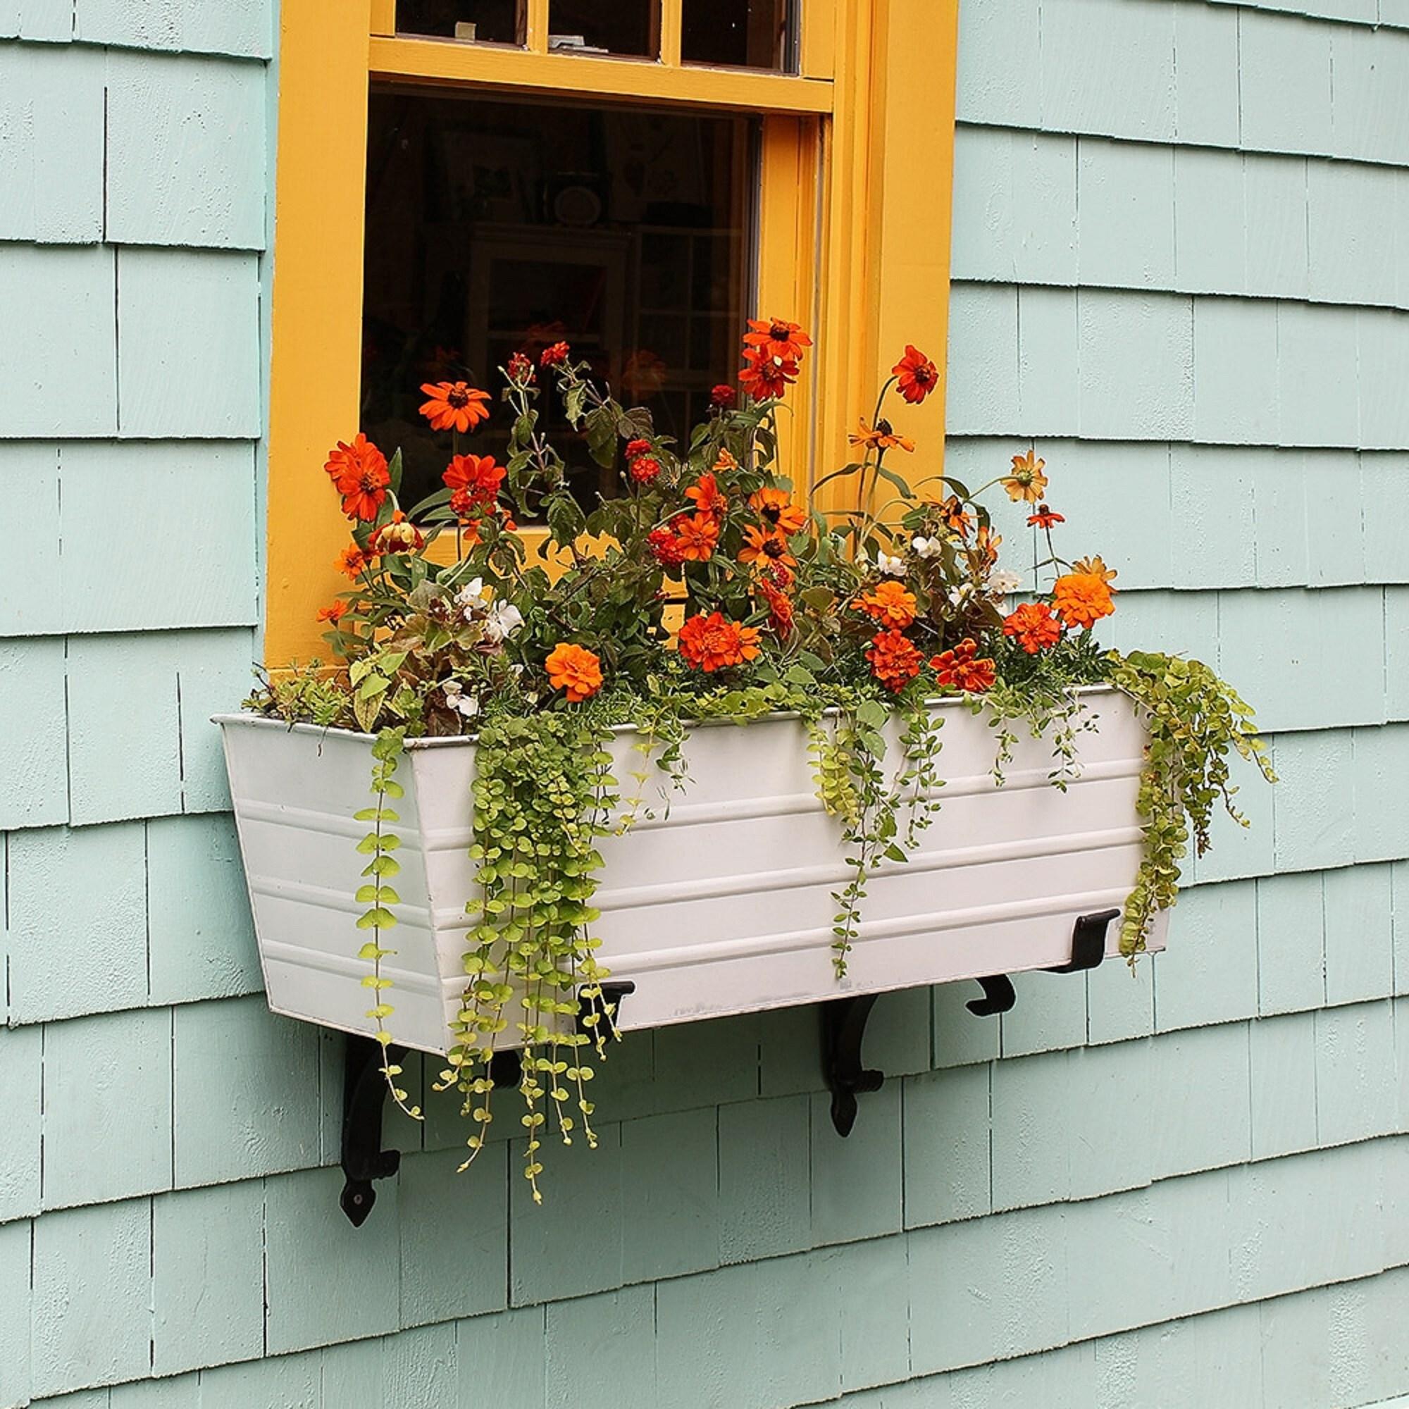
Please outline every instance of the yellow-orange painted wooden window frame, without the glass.
[[[521, 49], [399, 37], [395, 0], [282, 7], [266, 662], [324, 650], [316, 612], [341, 585], [348, 534], [321, 465], [358, 426], [372, 79], [761, 114], [758, 313], [806, 323], [817, 344], [783, 426], [795, 483], [844, 462], [905, 342], [944, 365], [958, 0], [799, 10], [799, 73], [782, 75], [682, 63], [682, 0], [662, 0], [658, 62], [550, 54], [548, 0], [528, 0]], [[941, 389], [896, 417], [926, 473], [943, 466], [943, 407]]]

